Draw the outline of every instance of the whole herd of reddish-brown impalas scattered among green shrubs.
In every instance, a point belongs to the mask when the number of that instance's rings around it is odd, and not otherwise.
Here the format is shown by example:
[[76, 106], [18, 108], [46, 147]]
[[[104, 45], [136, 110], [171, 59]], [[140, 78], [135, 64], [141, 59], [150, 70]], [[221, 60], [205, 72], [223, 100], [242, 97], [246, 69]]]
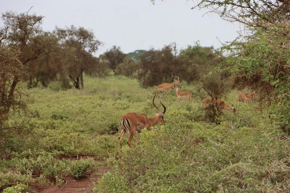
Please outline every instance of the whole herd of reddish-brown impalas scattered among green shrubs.
[[[163, 106], [164, 110], [163, 112], [159, 107], [157, 107], [154, 103], [154, 99], [156, 94], [153, 97], [153, 106], [158, 110], [152, 118], [148, 118], [144, 114], [139, 114], [139, 113], [127, 113], [122, 116], [121, 118], [121, 133], [119, 136], [119, 144], [118, 148], [121, 147], [121, 141], [126, 133], [129, 133], [129, 139], [127, 141], [127, 144], [129, 147], [131, 147], [131, 141], [136, 133], [136, 146], [139, 143], [139, 134], [141, 133], [141, 130], [146, 128], [148, 131], [151, 129], [151, 126], [156, 125], [157, 123], [160, 123], [162, 125], [165, 125], [164, 121], [164, 113], [166, 112], [166, 107], [165, 105], [161, 102], [161, 92], [168, 92], [170, 89], [174, 90], [176, 92], [176, 97], [178, 98], [178, 101], [186, 99], [189, 101], [190, 104], [192, 104], [191, 101], [191, 96], [192, 93], [189, 91], [183, 91], [179, 92], [179, 89], [181, 89], [181, 83], [179, 80], [178, 76], [173, 76], [171, 73], [171, 76], [173, 77], [173, 82], [172, 83], [162, 83], [158, 86], [157, 90], [159, 93], [159, 99], [160, 99], [160, 104]], [[177, 86], [178, 85], [178, 86]], [[176, 87], [177, 86], [177, 87]], [[237, 106], [240, 102], [243, 103], [248, 103], [253, 100], [253, 98], [256, 95], [256, 91], [253, 92], [253, 94], [248, 94], [248, 93], [240, 93], [237, 98]], [[236, 109], [234, 105], [230, 107], [229, 105], [225, 104], [223, 101], [220, 99], [215, 99], [215, 98], [204, 98], [203, 100], [200, 101], [200, 105], [203, 108], [203, 115], [205, 113], [205, 110], [208, 109], [209, 107], [215, 107], [218, 110], [218, 113], [220, 110], [228, 110], [231, 113], [235, 113]]]

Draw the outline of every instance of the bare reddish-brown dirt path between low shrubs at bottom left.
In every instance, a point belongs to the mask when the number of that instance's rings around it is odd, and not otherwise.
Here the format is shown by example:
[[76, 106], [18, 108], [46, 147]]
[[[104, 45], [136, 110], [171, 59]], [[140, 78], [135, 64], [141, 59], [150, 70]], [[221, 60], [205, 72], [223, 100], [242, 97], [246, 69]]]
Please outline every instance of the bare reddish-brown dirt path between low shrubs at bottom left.
[[[85, 156], [84, 156], [85, 157]], [[76, 157], [65, 157], [62, 156], [61, 159], [76, 159]], [[95, 159], [96, 160], [96, 159]], [[96, 160], [98, 162], [104, 162], [102, 160]], [[99, 171], [96, 173], [105, 174], [109, 171], [105, 165], [99, 166]], [[35, 192], [42, 192], [42, 193], [74, 193], [74, 192], [92, 192], [93, 189], [93, 182], [97, 182], [102, 175], [98, 176], [87, 176], [82, 178], [74, 178], [74, 177], [66, 177], [67, 184], [64, 187], [56, 187], [55, 183], [51, 186], [44, 186], [44, 187], [37, 187], [32, 186], [31, 188], [34, 189]]]

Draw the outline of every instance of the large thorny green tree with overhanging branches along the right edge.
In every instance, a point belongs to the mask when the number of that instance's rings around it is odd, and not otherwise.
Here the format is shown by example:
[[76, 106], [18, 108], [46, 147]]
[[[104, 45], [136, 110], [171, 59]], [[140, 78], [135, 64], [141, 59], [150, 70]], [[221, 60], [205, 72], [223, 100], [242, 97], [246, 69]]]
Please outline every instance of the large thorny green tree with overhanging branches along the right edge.
[[232, 71], [238, 90], [256, 90], [259, 109], [271, 106], [273, 125], [290, 133], [289, 1], [201, 0], [194, 8], [244, 27], [239, 38], [221, 48], [229, 57], [218, 67]]

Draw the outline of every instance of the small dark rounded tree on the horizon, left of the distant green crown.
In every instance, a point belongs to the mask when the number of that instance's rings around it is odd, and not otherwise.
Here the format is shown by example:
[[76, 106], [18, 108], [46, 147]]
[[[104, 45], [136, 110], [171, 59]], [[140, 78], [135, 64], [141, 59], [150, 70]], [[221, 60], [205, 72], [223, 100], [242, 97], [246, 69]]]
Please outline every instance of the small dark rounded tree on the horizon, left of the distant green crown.
[[126, 57], [126, 54], [124, 54], [121, 51], [120, 47], [117, 47], [116, 45], [113, 46], [110, 50], [107, 50], [104, 53], [105, 60], [108, 61], [110, 68], [113, 70], [114, 75], [117, 75], [117, 66], [123, 62], [123, 59]]

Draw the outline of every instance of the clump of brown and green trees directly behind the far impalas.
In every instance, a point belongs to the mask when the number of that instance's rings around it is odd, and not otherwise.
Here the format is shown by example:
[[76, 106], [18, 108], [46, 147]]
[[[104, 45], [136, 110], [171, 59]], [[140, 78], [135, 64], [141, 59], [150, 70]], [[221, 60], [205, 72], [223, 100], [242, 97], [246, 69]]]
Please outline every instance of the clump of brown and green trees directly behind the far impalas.
[[202, 47], [197, 42], [178, 53], [176, 43], [171, 43], [160, 50], [151, 48], [140, 56], [138, 79], [143, 86], [153, 86], [171, 82], [173, 73], [181, 80], [192, 82], [221, 61], [223, 57], [213, 47]]

